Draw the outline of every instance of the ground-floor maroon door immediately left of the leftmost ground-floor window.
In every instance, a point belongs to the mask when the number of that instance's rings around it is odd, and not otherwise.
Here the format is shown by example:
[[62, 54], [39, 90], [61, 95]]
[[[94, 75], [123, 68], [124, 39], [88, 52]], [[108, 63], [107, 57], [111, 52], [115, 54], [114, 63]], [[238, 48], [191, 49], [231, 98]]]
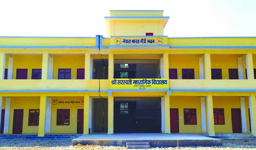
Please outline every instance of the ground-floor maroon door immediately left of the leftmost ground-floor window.
[[23, 109], [15, 109], [13, 114], [13, 134], [21, 134], [23, 127]]

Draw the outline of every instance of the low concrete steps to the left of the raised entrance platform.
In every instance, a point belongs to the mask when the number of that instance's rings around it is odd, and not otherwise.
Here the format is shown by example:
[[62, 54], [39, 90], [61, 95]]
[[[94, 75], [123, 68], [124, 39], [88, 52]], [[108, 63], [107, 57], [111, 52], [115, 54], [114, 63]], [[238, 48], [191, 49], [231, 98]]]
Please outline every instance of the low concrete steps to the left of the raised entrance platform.
[[22, 139], [75, 139], [82, 134], [45, 134], [44, 137], [38, 137], [37, 134], [1, 134], [0, 140], [22, 140]]

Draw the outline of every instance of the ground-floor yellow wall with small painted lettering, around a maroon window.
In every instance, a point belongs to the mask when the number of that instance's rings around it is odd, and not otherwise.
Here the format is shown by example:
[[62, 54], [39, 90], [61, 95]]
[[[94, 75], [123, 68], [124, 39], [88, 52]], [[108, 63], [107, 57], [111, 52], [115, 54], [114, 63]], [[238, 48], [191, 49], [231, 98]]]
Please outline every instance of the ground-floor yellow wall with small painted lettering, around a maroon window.
[[[58, 101], [81, 101], [84, 97], [52, 97]], [[77, 109], [83, 109], [81, 103], [58, 103], [51, 105], [51, 132], [50, 133], [77, 133]], [[57, 109], [70, 109], [70, 125], [57, 126]]]

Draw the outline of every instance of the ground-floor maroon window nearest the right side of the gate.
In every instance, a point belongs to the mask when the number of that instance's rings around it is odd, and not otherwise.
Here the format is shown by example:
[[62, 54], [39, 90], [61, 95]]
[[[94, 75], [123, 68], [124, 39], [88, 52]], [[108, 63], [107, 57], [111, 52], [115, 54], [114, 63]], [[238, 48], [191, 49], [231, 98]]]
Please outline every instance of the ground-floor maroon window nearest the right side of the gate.
[[184, 125], [197, 125], [196, 108], [184, 108]]

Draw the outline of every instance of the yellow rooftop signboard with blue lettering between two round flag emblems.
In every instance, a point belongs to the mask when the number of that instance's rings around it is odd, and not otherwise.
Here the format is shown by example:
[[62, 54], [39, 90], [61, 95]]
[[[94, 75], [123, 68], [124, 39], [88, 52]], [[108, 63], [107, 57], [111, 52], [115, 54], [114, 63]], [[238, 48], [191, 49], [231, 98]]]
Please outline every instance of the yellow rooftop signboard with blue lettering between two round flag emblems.
[[110, 37], [110, 45], [163, 45], [167, 37]]

